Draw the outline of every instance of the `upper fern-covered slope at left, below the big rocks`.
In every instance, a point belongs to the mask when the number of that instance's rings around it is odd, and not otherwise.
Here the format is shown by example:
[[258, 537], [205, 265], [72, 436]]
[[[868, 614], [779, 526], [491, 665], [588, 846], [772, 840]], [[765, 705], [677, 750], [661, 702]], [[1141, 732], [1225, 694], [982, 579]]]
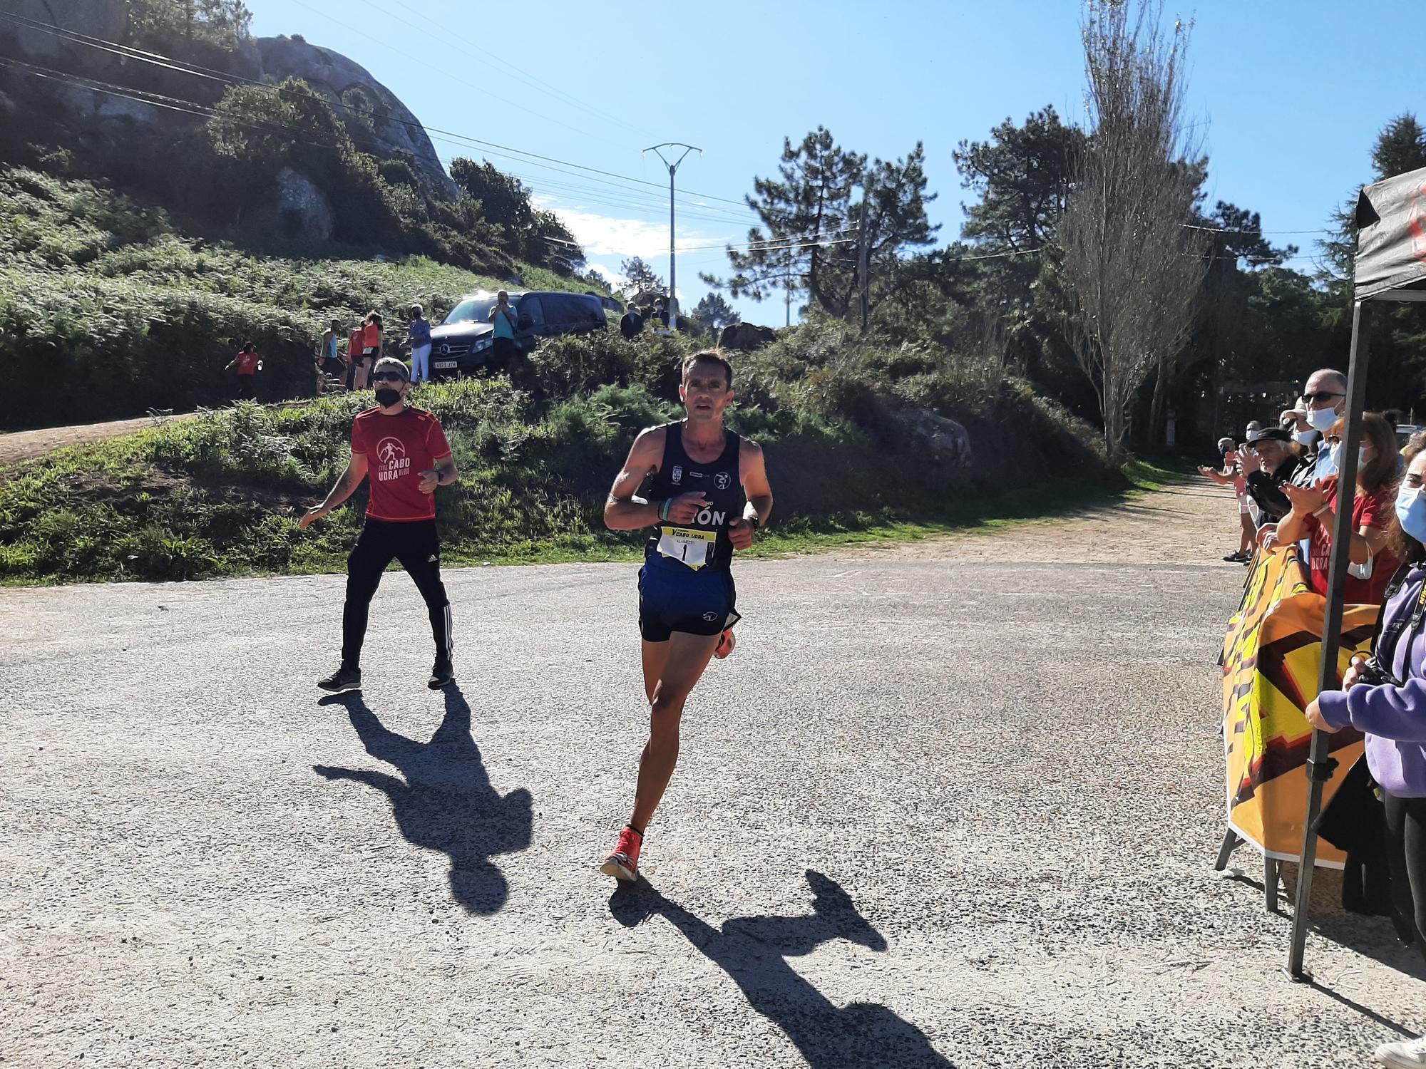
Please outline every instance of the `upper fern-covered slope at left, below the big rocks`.
[[[530, 288], [570, 286], [518, 271]], [[261, 398], [305, 396], [308, 353], [329, 318], [376, 309], [401, 336], [412, 301], [443, 314], [463, 292], [505, 284], [422, 257], [244, 251], [103, 185], [0, 168], [0, 373], [39, 385], [26, 405], [0, 409], [0, 429], [215, 403], [244, 341], [265, 358]]]

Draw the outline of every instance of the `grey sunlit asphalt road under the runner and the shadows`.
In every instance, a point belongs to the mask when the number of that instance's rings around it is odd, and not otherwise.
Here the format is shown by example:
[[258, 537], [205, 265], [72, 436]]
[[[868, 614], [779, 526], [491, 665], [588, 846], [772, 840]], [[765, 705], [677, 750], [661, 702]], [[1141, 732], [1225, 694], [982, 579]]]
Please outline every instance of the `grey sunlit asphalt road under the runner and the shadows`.
[[395, 573], [325, 701], [341, 577], [0, 592], [0, 1062], [1360, 1065], [1417, 959], [1212, 871], [1226, 567], [744, 563], [617, 894], [627, 564], [448, 573], [445, 697]]

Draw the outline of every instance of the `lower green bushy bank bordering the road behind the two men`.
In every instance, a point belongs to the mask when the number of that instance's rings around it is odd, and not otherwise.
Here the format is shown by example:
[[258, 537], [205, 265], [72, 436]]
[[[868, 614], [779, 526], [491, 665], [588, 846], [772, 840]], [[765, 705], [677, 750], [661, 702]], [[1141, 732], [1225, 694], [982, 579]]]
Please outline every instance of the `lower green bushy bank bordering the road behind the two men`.
[[[439, 492], [446, 559], [635, 553], [639, 534], [605, 530], [603, 499], [637, 429], [677, 415], [677, 369], [692, 348], [652, 335], [565, 338], [536, 352], [522, 389], [503, 376], [419, 388], [465, 473]], [[734, 363], [730, 422], [763, 443], [777, 495], [771, 550], [1044, 515], [1128, 489], [1087, 428], [948, 353], [813, 325]], [[0, 582], [339, 570], [364, 492], [308, 532], [297, 519], [345, 465], [351, 418], [369, 403], [241, 403], [0, 470]], [[904, 435], [907, 403], [973, 426], [975, 462], [937, 465]]]

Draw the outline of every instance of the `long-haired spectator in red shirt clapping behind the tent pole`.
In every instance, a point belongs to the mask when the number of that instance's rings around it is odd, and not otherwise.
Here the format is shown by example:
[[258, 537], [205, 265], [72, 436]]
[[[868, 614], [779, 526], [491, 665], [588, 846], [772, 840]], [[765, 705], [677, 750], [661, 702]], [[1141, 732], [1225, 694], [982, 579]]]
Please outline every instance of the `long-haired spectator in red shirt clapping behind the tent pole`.
[[[1332, 450], [1332, 468], [1338, 469], [1342, 453], [1343, 420], [1338, 419], [1326, 432]], [[1358, 446], [1356, 497], [1352, 503], [1352, 567], [1346, 577], [1349, 604], [1380, 604], [1386, 583], [1396, 570], [1396, 556], [1387, 546], [1387, 529], [1396, 503], [1396, 430], [1376, 412], [1362, 415], [1362, 445]], [[1282, 487], [1292, 509], [1278, 523], [1278, 542], [1306, 539], [1306, 563], [1312, 589], [1328, 593], [1328, 572], [1332, 566], [1332, 530], [1338, 503], [1338, 476], [1332, 475], [1316, 486]]]

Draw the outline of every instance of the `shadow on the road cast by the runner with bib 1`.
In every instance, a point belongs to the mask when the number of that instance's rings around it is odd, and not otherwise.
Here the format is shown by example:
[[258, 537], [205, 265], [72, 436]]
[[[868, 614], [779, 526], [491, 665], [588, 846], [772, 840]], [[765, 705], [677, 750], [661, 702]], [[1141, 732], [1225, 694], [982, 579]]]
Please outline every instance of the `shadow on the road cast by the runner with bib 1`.
[[669, 921], [733, 978], [753, 1009], [787, 1033], [811, 1069], [954, 1069], [915, 1025], [870, 1002], [838, 1008], [793, 969], [789, 958], [811, 954], [830, 939], [850, 939], [873, 951], [887, 948], [836, 881], [807, 869], [807, 882], [814, 895], [813, 912], [803, 916], [734, 916], [714, 928], [643, 878], [620, 885], [609, 899], [609, 911], [625, 928], [650, 916]]

